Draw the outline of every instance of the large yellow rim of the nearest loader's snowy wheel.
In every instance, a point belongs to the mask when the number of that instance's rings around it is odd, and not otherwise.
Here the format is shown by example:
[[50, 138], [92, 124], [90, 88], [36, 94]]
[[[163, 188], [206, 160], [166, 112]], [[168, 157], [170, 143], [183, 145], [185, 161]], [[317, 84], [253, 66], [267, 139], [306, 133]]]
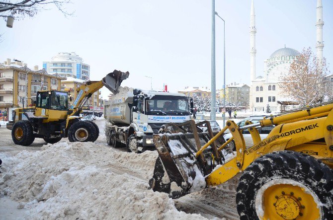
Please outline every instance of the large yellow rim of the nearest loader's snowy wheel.
[[259, 219], [321, 219], [317, 195], [308, 187], [290, 179], [275, 179], [264, 184], [255, 198]]

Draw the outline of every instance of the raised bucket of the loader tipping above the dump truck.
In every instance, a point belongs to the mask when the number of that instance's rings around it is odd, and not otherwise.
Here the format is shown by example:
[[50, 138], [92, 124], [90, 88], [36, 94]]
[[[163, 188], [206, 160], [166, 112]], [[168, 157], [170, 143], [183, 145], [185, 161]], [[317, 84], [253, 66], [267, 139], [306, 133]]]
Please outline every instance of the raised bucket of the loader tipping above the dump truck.
[[108, 88], [113, 94], [118, 93], [118, 88], [120, 86], [120, 83], [128, 78], [128, 75], [130, 73], [121, 72], [114, 70], [112, 73], [107, 74], [103, 79], [103, 85]]

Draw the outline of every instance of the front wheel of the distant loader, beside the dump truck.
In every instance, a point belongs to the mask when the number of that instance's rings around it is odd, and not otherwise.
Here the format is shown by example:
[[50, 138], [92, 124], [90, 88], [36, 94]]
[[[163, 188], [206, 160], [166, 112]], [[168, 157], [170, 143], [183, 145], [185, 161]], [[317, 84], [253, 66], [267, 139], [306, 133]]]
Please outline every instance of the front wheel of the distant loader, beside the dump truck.
[[73, 123], [68, 131], [70, 142], [93, 142], [97, 136], [95, 127], [87, 121]]

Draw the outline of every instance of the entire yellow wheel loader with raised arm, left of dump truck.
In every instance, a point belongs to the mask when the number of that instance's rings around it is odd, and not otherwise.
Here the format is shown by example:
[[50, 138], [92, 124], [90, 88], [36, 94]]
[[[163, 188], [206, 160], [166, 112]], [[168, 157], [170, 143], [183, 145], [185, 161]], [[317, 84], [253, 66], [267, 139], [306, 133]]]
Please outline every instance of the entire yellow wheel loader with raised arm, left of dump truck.
[[120, 83], [128, 75], [128, 72], [115, 70], [100, 81], [85, 82], [77, 88], [72, 106], [69, 106], [68, 92], [38, 91], [35, 107], [13, 111], [13, 121], [7, 124], [13, 142], [29, 146], [35, 138], [43, 138], [45, 142], [54, 144], [67, 137], [70, 142], [94, 142], [99, 130], [95, 123], [80, 120], [83, 105], [103, 86], [116, 94]]

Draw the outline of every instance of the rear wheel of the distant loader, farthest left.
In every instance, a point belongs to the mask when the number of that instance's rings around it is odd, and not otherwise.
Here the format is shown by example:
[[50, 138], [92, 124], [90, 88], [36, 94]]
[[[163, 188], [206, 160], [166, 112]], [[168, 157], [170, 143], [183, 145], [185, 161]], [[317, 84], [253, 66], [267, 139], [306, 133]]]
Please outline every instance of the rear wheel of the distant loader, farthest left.
[[30, 122], [20, 120], [11, 129], [11, 139], [15, 145], [29, 146], [35, 140], [33, 128]]

